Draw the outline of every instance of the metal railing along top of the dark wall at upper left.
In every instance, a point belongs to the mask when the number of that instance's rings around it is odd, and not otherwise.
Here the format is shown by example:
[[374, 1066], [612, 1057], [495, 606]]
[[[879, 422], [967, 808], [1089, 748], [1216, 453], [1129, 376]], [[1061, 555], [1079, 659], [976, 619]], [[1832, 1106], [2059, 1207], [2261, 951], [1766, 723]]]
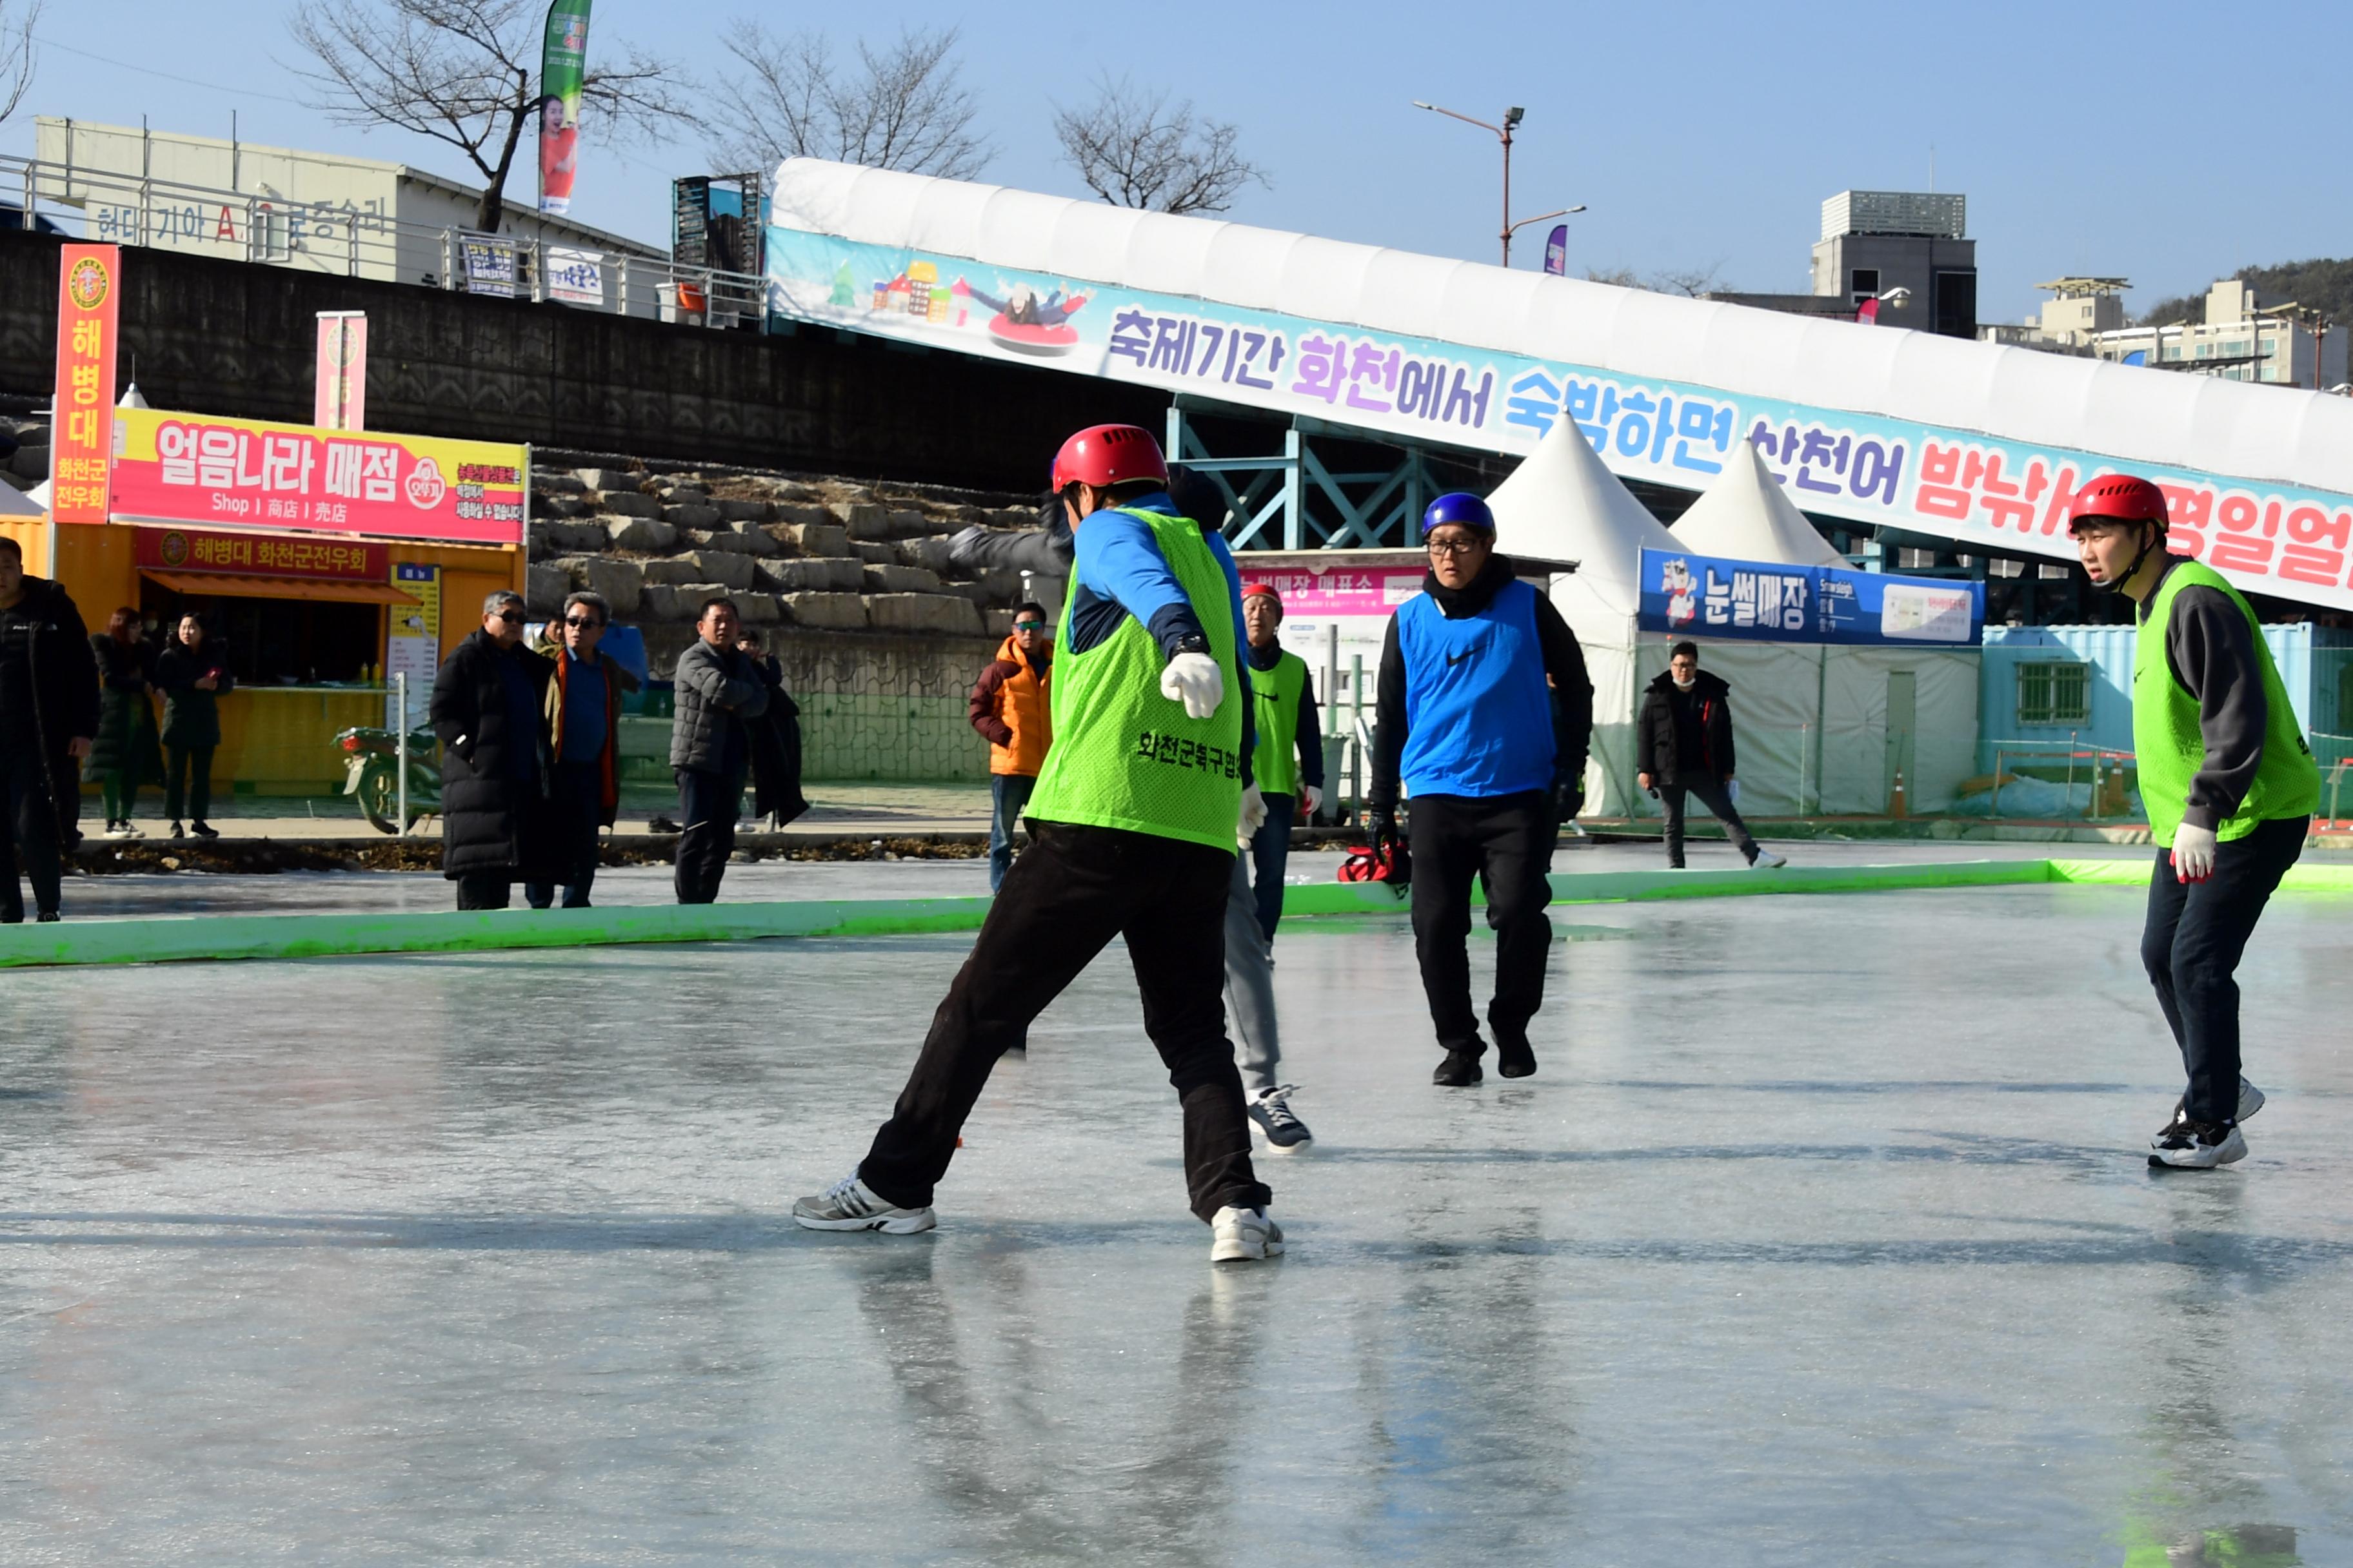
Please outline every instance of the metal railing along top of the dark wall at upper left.
[[767, 282], [685, 268], [652, 249], [600, 244], [518, 209], [508, 233], [407, 223], [353, 202], [294, 202], [167, 179], [132, 179], [38, 158], [0, 158], [0, 200], [21, 223], [71, 219], [85, 240], [146, 244], [306, 273], [553, 301], [694, 327], [767, 327]]

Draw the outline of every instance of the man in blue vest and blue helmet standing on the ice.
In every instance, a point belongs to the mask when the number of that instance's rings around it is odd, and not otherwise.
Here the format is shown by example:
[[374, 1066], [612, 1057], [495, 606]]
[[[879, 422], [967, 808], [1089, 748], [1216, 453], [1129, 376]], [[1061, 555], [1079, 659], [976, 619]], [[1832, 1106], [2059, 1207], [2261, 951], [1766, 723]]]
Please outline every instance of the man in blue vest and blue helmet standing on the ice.
[[1421, 517], [1431, 571], [1388, 618], [1379, 729], [1365, 792], [1374, 853], [1398, 837], [1398, 783], [1412, 792], [1414, 957], [1445, 1060], [1433, 1084], [1478, 1084], [1487, 1044], [1471, 1006], [1471, 884], [1494, 926], [1497, 1065], [1537, 1070], [1527, 1023], [1553, 947], [1553, 844], [1584, 806], [1593, 686], [1553, 602], [1494, 550], [1478, 496], [1438, 496]]

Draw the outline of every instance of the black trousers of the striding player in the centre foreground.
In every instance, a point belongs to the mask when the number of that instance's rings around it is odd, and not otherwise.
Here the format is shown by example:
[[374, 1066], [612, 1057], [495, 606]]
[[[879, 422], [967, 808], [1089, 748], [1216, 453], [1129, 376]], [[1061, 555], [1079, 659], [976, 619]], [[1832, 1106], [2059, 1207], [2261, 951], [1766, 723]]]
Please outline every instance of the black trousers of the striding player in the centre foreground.
[[932, 1013], [915, 1070], [859, 1178], [901, 1208], [932, 1201], [988, 1070], [1113, 936], [1144, 994], [1144, 1032], [1184, 1110], [1184, 1175], [1202, 1220], [1264, 1208], [1249, 1168], [1242, 1074], [1226, 1039], [1233, 851], [1120, 827], [1031, 820], [1031, 849], [988, 905], [972, 957]]

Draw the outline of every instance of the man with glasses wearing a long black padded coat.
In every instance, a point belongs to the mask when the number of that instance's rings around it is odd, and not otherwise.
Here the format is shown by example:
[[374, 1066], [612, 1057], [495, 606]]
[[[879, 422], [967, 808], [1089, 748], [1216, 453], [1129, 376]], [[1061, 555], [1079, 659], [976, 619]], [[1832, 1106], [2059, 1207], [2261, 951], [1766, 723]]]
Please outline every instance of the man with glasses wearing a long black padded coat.
[[442, 743], [442, 877], [456, 907], [504, 910], [515, 882], [555, 860], [546, 799], [546, 705], [555, 665], [522, 646], [522, 595], [482, 599], [482, 628], [433, 677]]

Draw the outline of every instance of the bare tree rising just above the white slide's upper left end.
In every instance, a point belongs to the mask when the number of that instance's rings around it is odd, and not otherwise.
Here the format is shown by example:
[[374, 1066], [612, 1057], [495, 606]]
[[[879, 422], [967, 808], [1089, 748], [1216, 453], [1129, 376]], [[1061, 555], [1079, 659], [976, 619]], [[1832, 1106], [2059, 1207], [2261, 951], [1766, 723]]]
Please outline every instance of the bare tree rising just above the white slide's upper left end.
[[769, 33], [736, 21], [722, 35], [744, 75], [720, 75], [729, 136], [718, 155], [736, 169], [772, 169], [786, 158], [831, 158], [868, 169], [972, 179], [995, 148], [972, 129], [979, 101], [953, 59], [958, 33], [901, 33], [875, 49], [856, 45], [856, 66], [833, 59], [824, 33]]

